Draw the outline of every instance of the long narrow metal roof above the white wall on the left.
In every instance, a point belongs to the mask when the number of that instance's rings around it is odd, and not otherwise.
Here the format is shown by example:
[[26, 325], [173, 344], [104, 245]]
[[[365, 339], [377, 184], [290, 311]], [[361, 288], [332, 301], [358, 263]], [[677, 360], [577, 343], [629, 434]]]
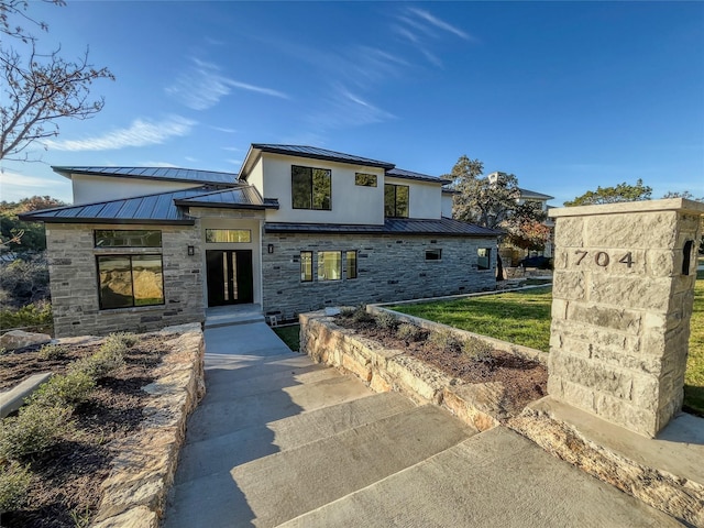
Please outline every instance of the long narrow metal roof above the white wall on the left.
[[52, 166], [52, 169], [69, 178], [72, 174], [89, 176], [108, 176], [119, 178], [154, 179], [157, 182], [184, 182], [210, 185], [237, 185], [237, 174], [216, 173], [176, 167], [64, 167]]

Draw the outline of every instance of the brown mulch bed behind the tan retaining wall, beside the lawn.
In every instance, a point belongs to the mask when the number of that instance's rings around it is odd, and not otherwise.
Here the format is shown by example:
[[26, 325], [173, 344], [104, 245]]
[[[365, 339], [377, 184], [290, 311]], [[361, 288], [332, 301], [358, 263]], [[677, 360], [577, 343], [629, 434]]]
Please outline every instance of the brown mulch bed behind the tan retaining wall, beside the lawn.
[[494, 350], [490, 361], [476, 361], [459, 350], [443, 351], [424, 339], [404, 341], [396, 332], [378, 328], [374, 322], [354, 321], [346, 317], [337, 317], [340, 327], [356, 331], [385, 348], [398, 349], [421, 360], [451, 377], [465, 383], [501, 382], [505, 388], [506, 409], [519, 413], [530, 402], [548, 394], [548, 369], [529, 359]]

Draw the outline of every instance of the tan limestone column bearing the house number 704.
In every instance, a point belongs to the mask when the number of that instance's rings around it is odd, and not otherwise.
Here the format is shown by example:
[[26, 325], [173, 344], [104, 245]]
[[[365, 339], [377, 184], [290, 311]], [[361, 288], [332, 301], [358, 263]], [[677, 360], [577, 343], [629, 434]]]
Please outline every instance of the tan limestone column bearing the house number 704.
[[548, 392], [654, 437], [682, 407], [704, 204], [553, 209]]

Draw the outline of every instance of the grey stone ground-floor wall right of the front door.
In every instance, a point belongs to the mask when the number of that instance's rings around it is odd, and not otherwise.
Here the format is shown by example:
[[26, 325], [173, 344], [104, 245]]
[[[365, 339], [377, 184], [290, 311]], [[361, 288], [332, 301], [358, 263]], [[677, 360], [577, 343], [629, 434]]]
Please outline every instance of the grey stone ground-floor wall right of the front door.
[[[267, 253], [273, 244], [273, 253]], [[388, 302], [493, 289], [496, 240], [437, 235], [274, 234], [262, 238], [263, 310], [285, 319], [326, 306]], [[477, 271], [477, 249], [491, 270]], [[442, 260], [426, 261], [441, 249]], [[358, 251], [358, 278], [317, 280], [318, 251]], [[300, 280], [300, 252], [312, 251], [314, 282]]]

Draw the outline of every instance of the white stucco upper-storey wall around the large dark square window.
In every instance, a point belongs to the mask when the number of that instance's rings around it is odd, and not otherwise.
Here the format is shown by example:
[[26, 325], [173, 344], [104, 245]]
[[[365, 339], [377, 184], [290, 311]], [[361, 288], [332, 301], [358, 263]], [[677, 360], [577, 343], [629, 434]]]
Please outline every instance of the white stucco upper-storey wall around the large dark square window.
[[[264, 196], [278, 198], [279, 209], [266, 212], [267, 222], [297, 223], [384, 223], [384, 169], [300, 157], [264, 154]], [[331, 179], [331, 209], [317, 211], [294, 209], [292, 201], [292, 165], [329, 168]], [[354, 185], [354, 174], [376, 175], [376, 187]], [[250, 176], [251, 178], [252, 176]], [[250, 182], [252, 182], [250, 179]]]

